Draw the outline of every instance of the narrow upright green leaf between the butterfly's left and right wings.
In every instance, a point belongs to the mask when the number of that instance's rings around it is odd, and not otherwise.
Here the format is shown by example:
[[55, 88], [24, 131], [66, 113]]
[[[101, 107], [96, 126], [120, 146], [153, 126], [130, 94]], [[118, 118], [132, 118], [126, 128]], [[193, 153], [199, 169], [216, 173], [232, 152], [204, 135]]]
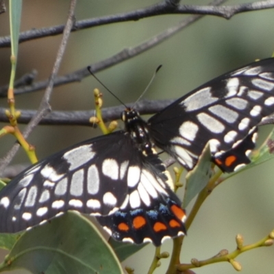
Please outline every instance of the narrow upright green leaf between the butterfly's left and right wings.
[[208, 184], [211, 176], [211, 166], [210, 146], [207, 144], [195, 168], [186, 175], [183, 208], [186, 208], [188, 203]]

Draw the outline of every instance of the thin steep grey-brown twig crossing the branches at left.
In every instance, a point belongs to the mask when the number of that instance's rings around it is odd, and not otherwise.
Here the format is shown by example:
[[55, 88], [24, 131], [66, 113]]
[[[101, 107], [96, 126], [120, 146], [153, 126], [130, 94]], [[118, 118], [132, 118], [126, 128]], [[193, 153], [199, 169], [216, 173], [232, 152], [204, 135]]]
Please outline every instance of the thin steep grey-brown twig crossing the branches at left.
[[[29, 136], [29, 134], [32, 132], [34, 127], [36, 127], [36, 125], [38, 125], [38, 123], [43, 119], [43, 117], [45, 117], [51, 111], [49, 101], [51, 98], [51, 93], [53, 91], [53, 82], [54, 82], [54, 79], [59, 71], [62, 57], [64, 55], [64, 51], [66, 49], [66, 45], [69, 40], [69, 35], [71, 33], [71, 28], [73, 27], [76, 1], [77, 0], [71, 0], [68, 20], [66, 21], [66, 27], [64, 28], [64, 34], [62, 37], [60, 47], [58, 49], [57, 58], [55, 60], [54, 66], [53, 66], [51, 77], [49, 77], [49, 83], [47, 85], [47, 89], [45, 90], [45, 95], [42, 98], [42, 101], [40, 103], [38, 111], [36, 112], [35, 116], [32, 117], [32, 120], [29, 122], [29, 124], [25, 128], [25, 131], [23, 132], [23, 136], [25, 138], [27, 138], [27, 136]], [[16, 151], [18, 151], [18, 148], [19, 148], [18, 144], [14, 145], [12, 147], [12, 149], [10, 149], [10, 151], [8, 151], [8, 153], [5, 155], [5, 157], [3, 157], [0, 160], [0, 174], [3, 172], [5, 167], [8, 166], [8, 164], [14, 157]]]

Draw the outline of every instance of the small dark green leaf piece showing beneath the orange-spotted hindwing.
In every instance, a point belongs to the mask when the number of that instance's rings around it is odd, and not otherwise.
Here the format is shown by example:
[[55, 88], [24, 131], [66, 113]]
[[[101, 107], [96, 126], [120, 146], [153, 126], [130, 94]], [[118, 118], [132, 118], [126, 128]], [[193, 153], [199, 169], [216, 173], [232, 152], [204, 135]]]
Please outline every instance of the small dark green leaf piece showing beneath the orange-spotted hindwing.
[[116, 240], [113, 240], [113, 238], [110, 238], [109, 242], [121, 262], [147, 245], [134, 245], [129, 242], [117, 242]]

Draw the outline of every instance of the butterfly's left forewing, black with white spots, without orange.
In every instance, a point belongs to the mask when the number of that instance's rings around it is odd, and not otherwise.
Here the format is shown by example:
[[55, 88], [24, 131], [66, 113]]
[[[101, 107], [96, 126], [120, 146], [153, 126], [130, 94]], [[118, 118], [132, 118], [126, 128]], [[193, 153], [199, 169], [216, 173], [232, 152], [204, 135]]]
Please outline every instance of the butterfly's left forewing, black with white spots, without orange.
[[23, 171], [1, 191], [0, 231], [17, 232], [76, 210], [107, 215], [127, 195], [127, 169], [138, 166], [131, 139], [115, 132], [77, 144]]

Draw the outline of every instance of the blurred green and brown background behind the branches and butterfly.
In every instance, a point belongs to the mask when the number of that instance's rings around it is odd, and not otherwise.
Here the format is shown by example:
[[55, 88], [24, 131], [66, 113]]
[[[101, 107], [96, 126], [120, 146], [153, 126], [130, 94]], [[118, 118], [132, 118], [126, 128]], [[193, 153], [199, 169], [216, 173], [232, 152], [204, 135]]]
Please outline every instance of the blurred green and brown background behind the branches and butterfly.
[[[156, 0], [82, 0], [78, 1], [76, 20], [134, 11], [160, 1]], [[202, 2], [202, 3], [201, 3]], [[225, 5], [246, 3], [247, 0], [227, 1]], [[250, 2], [250, 0], [249, 0]], [[181, 4], [205, 5], [206, 1], [181, 1]], [[8, 1], [6, 3], [8, 5]], [[21, 31], [61, 25], [66, 22], [69, 1], [23, 1]], [[188, 15], [164, 15], [112, 23], [84, 29], [71, 34], [69, 45], [59, 75], [71, 73], [90, 64], [110, 58], [123, 49], [136, 47], [153, 36], [177, 25]], [[0, 36], [9, 35], [8, 10], [0, 15]], [[230, 20], [206, 16], [183, 29], [157, 47], [149, 49], [130, 60], [97, 73], [97, 77], [125, 103], [134, 102], [147, 86], [155, 68], [162, 64], [155, 81], [145, 94], [145, 99], [177, 99], [200, 84], [257, 58], [269, 58], [274, 51], [274, 9], [246, 12]], [[17, 77], [38, 71], [37, 81], [47, 79], [51, 73], [61, 36], [52, 36], [19, 45]], [[0, 49], [0, 86], [10, 79], [10, 49]], [[100, 88], [105, 107], [119, 105], [93, 78], [54, 88], [51, 97], [53, 110], [93, 109], [92, 90]], [[36, 110], [45, 90], [16, 97], [16, 108]], [[7, 107], [6, 99], [0, 99]], [[1, 127], [3, 127], [1, 123]], [[23, 129], [25, 126], [22, 125]], [[271, 127], [260, 129], [266, 136]], [[92, 136], [99, 130], [80, 126], [38, 126], [28, 140], [36, 146], [39, 159]], [[0, 140], [0, 157], [14, 144], [12, 136]], [[27, 163], [21, 150], [12, 164]], [[233, 251], [235, 236], [245, 237], [245, 244], [256, 242], [274, 229], [274, 161], [232, 177], [216, 188], [202, 206], [182, 249], [182, 262], [191, 258], [205, 260], [221, 249]], [[189, 211], [189, 209], [187, 209]], [[164, 243], [162, 251], [171, 251], [171, 241]], [[124, 265], [138, 273], [147, 273], [153, 258], [152, 245], [132, 256]], [[2, 253], [4, 254], [4, 253]], [[242, 254], [236, 260], [242, 264], [242, 274], [273, 273], [274, 247], [261, 248]], [[169, 259], [166, 260], [166, 263]], [[142, 262], [140, 264], [140, 262]], [[166, 264], [155, 271], [165, 273]], [[14, 273], [27, 273], [18, 271]], [[195, 269], [197, 274], [235, 273], [228, 263], [212, 264]]]

